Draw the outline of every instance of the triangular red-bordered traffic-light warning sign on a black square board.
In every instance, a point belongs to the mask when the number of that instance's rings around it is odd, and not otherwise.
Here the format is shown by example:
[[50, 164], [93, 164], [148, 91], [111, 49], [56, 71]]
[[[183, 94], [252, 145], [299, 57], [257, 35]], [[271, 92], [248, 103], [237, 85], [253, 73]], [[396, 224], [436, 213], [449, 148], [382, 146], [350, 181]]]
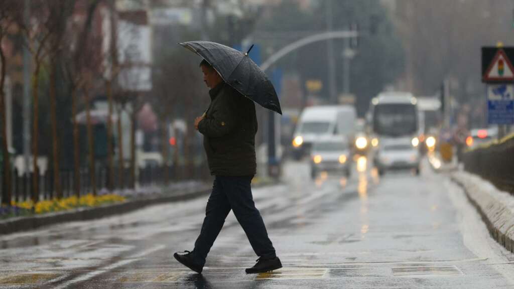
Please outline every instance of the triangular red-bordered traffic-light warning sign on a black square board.
[[513, 47], [482, 47], [482, 82], [514, 82]]

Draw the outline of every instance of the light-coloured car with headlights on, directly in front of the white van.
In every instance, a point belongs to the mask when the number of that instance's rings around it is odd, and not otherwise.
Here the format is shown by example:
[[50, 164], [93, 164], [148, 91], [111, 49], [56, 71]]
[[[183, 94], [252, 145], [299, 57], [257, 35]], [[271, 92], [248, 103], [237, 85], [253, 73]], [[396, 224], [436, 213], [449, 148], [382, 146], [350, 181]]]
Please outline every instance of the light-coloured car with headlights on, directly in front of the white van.
[[310, 153], [310, 176], [314, 179], [321, 171], [337, 171], [350, 177], [351, 159], [346, 138], [320, 138], [313, 143]]

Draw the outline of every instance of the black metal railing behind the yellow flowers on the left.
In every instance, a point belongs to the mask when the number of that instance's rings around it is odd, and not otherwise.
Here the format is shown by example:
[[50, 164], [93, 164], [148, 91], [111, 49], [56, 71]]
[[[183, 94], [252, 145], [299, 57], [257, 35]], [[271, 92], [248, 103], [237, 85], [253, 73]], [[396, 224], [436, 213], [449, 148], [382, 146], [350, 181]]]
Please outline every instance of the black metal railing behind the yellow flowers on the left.
[[[59, 184], [61, 186], [63, 197], [76, 195], [74, 184], [74, 171], [61, 170], [59, 172]], [[120, 178], [120, 174], [123, 174]], [[81, 168], [79, 171], [79, 188], [80, 195], [86, 195], [93, 191], [93, 186], [97, 191], [130, 189], [133, 184], [138, 188], [151, 186], [164, 186], [167, 183], [180, 182], [189, 179], [209, 179], [209, 170], [207, 164], [199, 165], [182, 165], [182, 166], [146, 166], [144, 168], [136, 168], [135, 180], [132, 180], [130, 168], [124, 168], [120, 171], [114, 168], [112, 174], [112, 182], [109, 182], [108, 169], [105, 167], [95, 168], [95, 184], [91, 183], [91, 175], [87, 168]], [[31, 200], [33, 194], [33, 173], [20, 174], [16, 169], [11, 171], [11, 200], [16, 202], [24, 202]], [[4, 173], [0, 170], [0, 200], [6, 196], [7, 183], [4, 179]], [[109, 185], [111, 185], [109, 187]], [[56, 197], [56, 189], [54, 188], [53, 170], [48, 169], [38, 177], [38, 200], [51, 200]]]

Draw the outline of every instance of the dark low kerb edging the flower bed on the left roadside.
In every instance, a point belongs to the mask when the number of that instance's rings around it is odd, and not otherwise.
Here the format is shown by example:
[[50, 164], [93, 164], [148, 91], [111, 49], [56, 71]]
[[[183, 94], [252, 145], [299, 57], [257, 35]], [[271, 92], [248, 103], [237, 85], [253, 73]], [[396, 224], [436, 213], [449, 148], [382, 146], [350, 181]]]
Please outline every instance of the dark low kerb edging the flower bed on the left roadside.
[[123, 203], [103, 205], [95, 208], [79, 208], [66, 212], [12, 218], [6, 221], [0, 221], [0, 236], [14, 232], [33, 230], [58, 223], [100, 219], [106, 216], [135, 211], [151, 205], [191, 200], [199, 196], [207, 195], [210, 192], [211, 188], [209, 187], [188, 193], [139, 198]]

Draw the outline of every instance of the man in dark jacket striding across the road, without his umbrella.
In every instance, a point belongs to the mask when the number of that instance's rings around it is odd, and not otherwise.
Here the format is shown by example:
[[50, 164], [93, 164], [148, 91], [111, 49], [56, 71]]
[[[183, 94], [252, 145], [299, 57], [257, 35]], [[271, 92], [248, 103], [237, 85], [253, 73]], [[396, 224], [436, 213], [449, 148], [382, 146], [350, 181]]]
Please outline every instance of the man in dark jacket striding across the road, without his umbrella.
[[178, 262], [201, 273], [209, 250], [232, 210], [259, 256], [257, 263], [247, 268], [246, 273], [281, 268], [251, 192], [251, 180], [256, 173], [255, 134], [258, 125], [255, 105], [226, 84], [206, 60], [200, 63], [200, 68], [204, 82], [211, 88], [211, 104], [203, 116], [195, 119], [194, 125], [204, 135], [207, 161], [215, 179], [193, 251], [176, 252], [173, 256]]

